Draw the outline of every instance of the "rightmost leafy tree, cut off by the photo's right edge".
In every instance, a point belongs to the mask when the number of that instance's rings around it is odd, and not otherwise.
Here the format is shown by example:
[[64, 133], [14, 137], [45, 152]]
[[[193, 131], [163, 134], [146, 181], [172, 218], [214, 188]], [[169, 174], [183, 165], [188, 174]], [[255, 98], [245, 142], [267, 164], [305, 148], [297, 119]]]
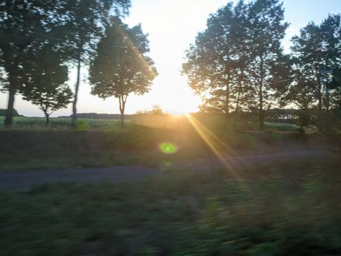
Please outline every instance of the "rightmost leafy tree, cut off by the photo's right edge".
[[341, 84], [331, 85], [339, 79], [336, 72], [341, 68], [338, 58], [340, 29], [340, 14], [330, 14], [320, 25], [309, 23], [300, 30], [300, 35], [292, 38], [295, 83], [287, 90], [289, 99], [303, 110], [303, 114], [307, 114], [308, 109], [317, 102], [320, 131], [329, 131], [329, 110], [340, 107], [334, 103], [335, 98], [340, 97], [338, 88]]

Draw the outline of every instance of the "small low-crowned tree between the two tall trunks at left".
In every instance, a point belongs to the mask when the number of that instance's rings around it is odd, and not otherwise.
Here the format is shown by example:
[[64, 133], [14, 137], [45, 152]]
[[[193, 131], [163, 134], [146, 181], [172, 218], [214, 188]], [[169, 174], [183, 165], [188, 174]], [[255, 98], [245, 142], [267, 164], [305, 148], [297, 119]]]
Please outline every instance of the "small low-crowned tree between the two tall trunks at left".
[[71, 103], [73, 94], [65, 85], [67, 66], [63, 65], [63, 58], [50, 45], [30, 54], [30, 60], [23, 65], [26, 72], [23, 76], [24, 86], [21, 88], [23, 99], [38, 105], [48, 124], [54, 111]]

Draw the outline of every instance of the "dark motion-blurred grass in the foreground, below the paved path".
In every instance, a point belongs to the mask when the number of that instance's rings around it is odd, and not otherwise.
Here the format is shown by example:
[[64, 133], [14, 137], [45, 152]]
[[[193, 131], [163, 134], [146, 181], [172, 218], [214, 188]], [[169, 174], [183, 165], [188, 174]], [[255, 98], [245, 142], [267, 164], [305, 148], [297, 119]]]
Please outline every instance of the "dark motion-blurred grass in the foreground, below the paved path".
[[0, 194], [1, 255], [338, 255], [340, 160]]

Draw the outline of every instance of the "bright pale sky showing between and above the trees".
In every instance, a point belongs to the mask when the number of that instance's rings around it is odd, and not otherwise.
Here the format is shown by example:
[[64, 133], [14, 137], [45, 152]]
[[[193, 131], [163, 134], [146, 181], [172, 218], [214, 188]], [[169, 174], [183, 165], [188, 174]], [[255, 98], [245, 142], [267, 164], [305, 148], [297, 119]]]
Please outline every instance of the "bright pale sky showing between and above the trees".
[[[248, 0], [245, 0], [248, 1]], [[184, 52], [190, 43], [194, 43], [197, 32], [206, 28], [211, 13], [225, 6], [228, 0], [131, 0], [129, 17], [124, 20], [130, 26], [142, 24], [144, 33], [148, 33], [151, 52], [159, 76], [153, 81], [151, 91], [143, 96], [129, 96], [126, 101], [126, 114], [138, 110], [151, 109], [159, 105], [173, 114], [182, 111], [197, 111], [200, 99], [195, 96], [181, 76], [181, 64]], [[320, 23], [330, 14], [341, 13], [341, 0], [283, 0], [285, 21], [290, 23], [283, 40], [285, 52], [289, 52], [290, 38], [298, 34], [309, 21]], [[75, 70], [70, 70], [69, 85], [74, 87]], [[91, 86], [87, 82], [87, 70], [82, 69], [82, 82], [78, 96], [78, 113], [118, 113], [118, 100], [102, 100], [90, 94]], [[6, 108], [7, 94], [0, 93], [0, 108]], [[43, 116], [39, 107], [16, 96], [14, 108], [24, 116]], [[52, 116], [69, 116], [71, 104]]]

